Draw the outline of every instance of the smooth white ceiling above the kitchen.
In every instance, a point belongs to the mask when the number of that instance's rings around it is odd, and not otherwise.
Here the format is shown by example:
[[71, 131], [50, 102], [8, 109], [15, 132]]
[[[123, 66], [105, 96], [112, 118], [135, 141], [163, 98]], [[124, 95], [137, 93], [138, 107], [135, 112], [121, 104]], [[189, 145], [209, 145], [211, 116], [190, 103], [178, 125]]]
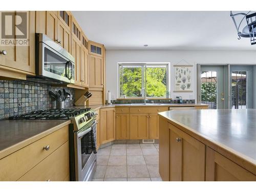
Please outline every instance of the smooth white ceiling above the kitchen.
[[[73, 11], [107, 50], [256, 50], [237, 39], [229, 11]], [[143, 47], [147, 44], [148, 47]]]

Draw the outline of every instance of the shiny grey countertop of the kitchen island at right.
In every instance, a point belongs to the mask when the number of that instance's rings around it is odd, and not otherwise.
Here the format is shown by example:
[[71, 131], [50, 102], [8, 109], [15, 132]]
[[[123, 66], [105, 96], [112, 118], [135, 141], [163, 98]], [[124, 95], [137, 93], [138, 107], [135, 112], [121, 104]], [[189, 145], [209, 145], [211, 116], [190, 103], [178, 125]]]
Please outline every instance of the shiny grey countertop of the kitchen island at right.
[[256, 110], [174, 110], [159, 115], [256, 165]]

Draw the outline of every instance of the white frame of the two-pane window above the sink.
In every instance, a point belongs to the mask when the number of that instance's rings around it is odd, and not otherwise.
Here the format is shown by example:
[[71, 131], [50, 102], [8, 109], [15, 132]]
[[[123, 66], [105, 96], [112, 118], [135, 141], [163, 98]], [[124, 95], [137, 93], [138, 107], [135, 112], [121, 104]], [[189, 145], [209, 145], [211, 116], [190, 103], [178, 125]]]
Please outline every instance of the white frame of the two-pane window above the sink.
[[[121, 82], [120, 82], [120, 67], [122, 66], [141, 66], [143, 67], [142, 68], [142, 74], [141, 74], [141, 77], [142, 77], [142, 81], [141, 81], [141, 88], [144, 88], [145, 91], [146, 91], [146, 67], [147, 66], [166, 66], [166, 91], [168, 91], [170, 93], [170, 86], [169, 86], [169, 81], [170, 81], [170, 77], [169, 77], [169, 70], [170, 70], [170, 63], [169, 62], [118, 62], [117, 63], [117, 68], [118, 68], [118, 98], [119, 99], [124, 99], [123, 97], [121, 97]], [[127, 99], [141, 99], [141, 98], [144, 98], [144, 97], [125, 97]], [[165, 96], [163, 97], [147, 97], [146, 98], [148, 99], [151, 99], [151, 98], [166, 98]]]

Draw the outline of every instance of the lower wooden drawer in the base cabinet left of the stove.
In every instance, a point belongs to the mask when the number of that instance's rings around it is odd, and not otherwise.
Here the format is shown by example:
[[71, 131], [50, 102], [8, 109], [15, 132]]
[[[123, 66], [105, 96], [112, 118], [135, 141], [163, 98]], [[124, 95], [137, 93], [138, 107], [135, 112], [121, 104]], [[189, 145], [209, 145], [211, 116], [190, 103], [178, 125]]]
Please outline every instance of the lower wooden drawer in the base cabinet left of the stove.
[[29, 170], [18, 181], [67, 181], [69, 180], [69, 142]]

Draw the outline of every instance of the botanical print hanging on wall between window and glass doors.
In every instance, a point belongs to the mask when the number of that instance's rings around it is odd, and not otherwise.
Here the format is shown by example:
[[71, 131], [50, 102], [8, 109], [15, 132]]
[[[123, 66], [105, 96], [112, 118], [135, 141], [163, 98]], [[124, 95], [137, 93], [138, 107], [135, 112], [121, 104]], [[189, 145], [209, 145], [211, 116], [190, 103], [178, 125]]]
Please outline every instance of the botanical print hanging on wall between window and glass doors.
[[193, 92], [191, 89], [191, 77], [193, 66], [174, 66], [175, 88], [174, 92]]

